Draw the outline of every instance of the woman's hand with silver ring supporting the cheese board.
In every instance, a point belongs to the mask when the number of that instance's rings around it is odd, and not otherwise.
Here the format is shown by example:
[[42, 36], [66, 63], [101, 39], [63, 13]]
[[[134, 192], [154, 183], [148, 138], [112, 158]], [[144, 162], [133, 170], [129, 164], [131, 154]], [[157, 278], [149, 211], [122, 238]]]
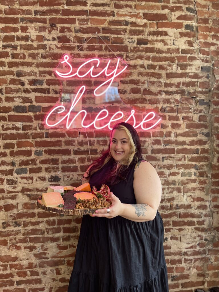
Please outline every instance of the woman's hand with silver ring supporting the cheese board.
[[[109, 208], [96, 210], [95, 213], [92, 215], [92, 217], [114, 218], [123, 213], [124, 205], [121, 203], [119, 198], [117, 198], [112, 192], [110, 192], [109, 195], [112, 201], [112, 206]], [[107, 209], [110, 210], [109, 213], [107, 213]]]

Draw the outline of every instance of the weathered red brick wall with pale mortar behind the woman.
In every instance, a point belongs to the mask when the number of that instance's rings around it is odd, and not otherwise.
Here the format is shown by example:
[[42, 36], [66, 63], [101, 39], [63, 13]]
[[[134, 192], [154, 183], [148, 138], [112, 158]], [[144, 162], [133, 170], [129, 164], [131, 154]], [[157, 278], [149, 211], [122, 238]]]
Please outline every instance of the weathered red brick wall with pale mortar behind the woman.
[[[129, 62], [120, 95], [149, 103], [161, 127], [139, 131], [163, 194], [170, 291], [218, 286], [219, 4], [217, 0], [0, 0], [0, 290], [67, 291], [81, 218], [47, 213], [36, 199], [53, 185], [79, 185], [90, 164], [78, 131], [46, 130], [60, 97], [62, 53], [95, 32]], [[93, 38], [80, 51], [107, 57]], [[87, 131], [92, 158], [109, 132]]]

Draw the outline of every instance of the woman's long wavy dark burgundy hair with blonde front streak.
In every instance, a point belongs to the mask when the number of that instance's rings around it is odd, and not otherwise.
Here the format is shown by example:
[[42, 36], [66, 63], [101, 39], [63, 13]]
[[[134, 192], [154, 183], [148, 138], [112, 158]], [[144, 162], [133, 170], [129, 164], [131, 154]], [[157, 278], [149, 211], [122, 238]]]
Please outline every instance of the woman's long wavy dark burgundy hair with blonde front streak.
[[[130, 155], [127, 156], [126, 159], [123, 161], [116, 162], [113, 159], [109, 150], [111, 138], [112, 138], [112, 132], [114, 129], [125, 130], [126, 134], [128, 135], [128, 143], [131, 148]], [[93, 175], [96, 171], [101, 169], [105, 164], [111, 162], [113, 166], [112, 166], [111, 171], [108, 173], [107, 177], [105, 177], [105, 181], [106, 182], [109, 181], [111, 185], [117, 184], [120, 180], [127, 181], [127, 179], [124, 177], [126, 170], [130, 166], [130, 164], [136, 163], [140, 159], [143, 159], [143, 158], [142, 158], [140, 138], [138, 136], [137, 131], [135, 130], [135, 128], [133, 128], [133, 126], [131, 126], [128, 123], [125, 123], [125, 122], [117, 123], [114, 125], [110, 133], [108, 149], [105, 150], [105, 152], [103, 152], [100, 158], [93, 161], [92, 166], [88, 171], [87, 177], [82, 175], [82, 178], [85, 178], [85, 179], [90, 178], [91, 175]], [[86, 172], [87, 172], [88, 167], [86, 168]]]

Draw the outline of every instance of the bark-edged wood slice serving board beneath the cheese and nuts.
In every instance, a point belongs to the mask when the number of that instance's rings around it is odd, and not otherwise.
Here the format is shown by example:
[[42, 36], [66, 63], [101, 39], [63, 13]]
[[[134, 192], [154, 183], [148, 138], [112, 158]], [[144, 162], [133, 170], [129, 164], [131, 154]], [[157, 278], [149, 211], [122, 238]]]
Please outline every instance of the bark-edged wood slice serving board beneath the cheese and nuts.
[[[52, 212], [52, 213], [57, 213], [57, 214], [65, 214], [65, 215], [86, 215], [86, 214], [93, 214], [95, 213], [96, 210], [99, 209], [88, 209], [88, 208], [84, 208], [84, 209], [63, 209], [63, 207], [46, 207], [45, 205], [43, 205], [41, 203], [42, 200], [37, 200], [37, 207], [41, 208], [43, 210], [46, 210], [48, 212]], [[107, 207], [103, 207], [100, 209], [105, 209]]]

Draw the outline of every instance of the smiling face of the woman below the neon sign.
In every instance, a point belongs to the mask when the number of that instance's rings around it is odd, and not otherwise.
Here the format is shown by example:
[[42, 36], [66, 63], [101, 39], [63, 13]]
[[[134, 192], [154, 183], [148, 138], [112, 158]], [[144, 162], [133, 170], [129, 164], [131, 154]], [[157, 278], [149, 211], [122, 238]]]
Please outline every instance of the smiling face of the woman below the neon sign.
[[125, 130], [114, 129], [112, 131], [109, 149], [115, 161], [123, 160], [130, 155], [131, 147]]

